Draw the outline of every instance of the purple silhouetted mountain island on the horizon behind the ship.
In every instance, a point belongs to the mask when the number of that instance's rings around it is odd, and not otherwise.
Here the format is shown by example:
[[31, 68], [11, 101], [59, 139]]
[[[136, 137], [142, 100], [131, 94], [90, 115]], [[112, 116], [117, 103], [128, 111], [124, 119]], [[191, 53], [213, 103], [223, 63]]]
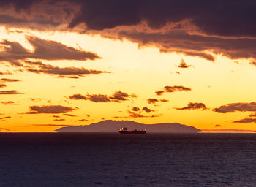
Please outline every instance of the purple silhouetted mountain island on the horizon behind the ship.
[[86, 126], [65, 126], [56, 129], [57, 132], [117, 132], [121, 126], [127, 129], [146, 129], [147, 132], [175, 132], [175, 133], [197, 133], [200, 129], [193, 126], [181, 125], [179, 123], [142, 124], [135, 121], [100, 121]]

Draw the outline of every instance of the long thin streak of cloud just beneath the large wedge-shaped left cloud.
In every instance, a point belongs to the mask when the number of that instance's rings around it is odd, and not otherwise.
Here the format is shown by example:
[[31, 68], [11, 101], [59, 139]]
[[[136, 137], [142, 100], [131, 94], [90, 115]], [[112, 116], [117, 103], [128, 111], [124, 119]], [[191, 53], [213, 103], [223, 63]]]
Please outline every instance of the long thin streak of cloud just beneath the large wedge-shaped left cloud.
[[[101, 74], [101, 73], [108, 73], [102, 72], [97, 70], [89, 70], [83, 67], [64, 67], [61, 68], [59, 66], [52, 66], [50, 64], [43, 64], [42, 62], [36, 61], [24, 61], [26, 64], [30, 66], [26, 66], [26, 70], [33, 73], [45, 73], [50, 75], [60, 75], [59, 77], [63, 78], [78, 78], [76, 76], [83, 77], [83, 75], [89, 74]], [[71, 77], [70, 77], [71, 76]], [[75, 76], [75, 77], [74, 77]]]

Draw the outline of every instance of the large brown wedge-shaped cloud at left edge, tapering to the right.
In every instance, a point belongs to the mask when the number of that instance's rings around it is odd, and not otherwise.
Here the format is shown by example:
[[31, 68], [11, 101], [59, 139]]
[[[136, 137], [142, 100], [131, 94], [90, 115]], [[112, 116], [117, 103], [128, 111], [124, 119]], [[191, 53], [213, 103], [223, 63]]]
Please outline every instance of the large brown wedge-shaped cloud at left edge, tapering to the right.
[[34, 47], [31, 52], [18, 42], [10, 42], [4, 40], [0, 44], [4, 51], [0, 53], [0, 61], [10, 61], [12, 65], [22, 66], [17, 60], [44, 59], [44, 60], [95, 60], [100, 58], [95, 53], [77, 50], [74, 47], [68, 47], [60, 42], [52, 40], [40, 39], [38, 37], [26, 37], [26, 39]]

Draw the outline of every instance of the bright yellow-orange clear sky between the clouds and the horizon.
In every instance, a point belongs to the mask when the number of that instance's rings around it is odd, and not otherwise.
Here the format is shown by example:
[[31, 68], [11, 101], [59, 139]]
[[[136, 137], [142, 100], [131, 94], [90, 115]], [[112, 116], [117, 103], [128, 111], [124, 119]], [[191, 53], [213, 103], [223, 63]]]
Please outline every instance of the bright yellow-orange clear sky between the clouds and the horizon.
[[[12, 31], [13, 30], [13, 31]], [[96, 53], [102, 57], [94, 61], [45, 61], [53, 66], [84, 67], [107, 71], [99, 75], [86, 75], [79, 79], [59, 78], [57, 75], [20, 72], [19, 67], [1, 63], [0, 72], [12, 72], [13, 75], [1, 75], [0, 78], [12, 78], [21, 82], [6, 83], [7, 87], [0, 91], [17, 90], [24, 94], [0, 95], [1, 102], [13, 101], [14, 105], [0, 105], [0, 128], [11, 131], [54, 131], [61, 126], [56, 125], [88, 125], [101, 121], [102, 118], [112, 120], [129, 120], [140, 123], [181, 123], [195, 126], [198, 129], [256, 129], [255, 123], [233, 123], [247, 118], [252, 112], [217, 113], [212, 109], [221, 105], [237, 102], [255, 102], [256, 88], [252, 80], [256, 78], [256, 67], [249, 65], [249, 60], [234, 60], [216, 56], [216, 61], [203, 58], [184, 56], [177, 53], [159, 53], [157, 47], [138, 48], [138, 44], [127, 40], [113, 40], [99, 35], [78, 34], [61, 31], [32, 31], [16, 28], [0, 28], [1, 41], [7, 39], [19, 42], [23, 47], [33, 51], [33, 46], [26, 36], [61, 42], [64, 45]], [[178, 68], [181, 59], [192, 67]], [[180, 74], [176, 73], [180, 72]], [[192, 91], [177, 91], [157, 96], [155, 91], [162, 90], [166, 85], [182, 85]], [[138, 97], [125, 102], [95, 103], [87, 100], [71, 100], [73, 94], [112, 95], [115, 91], [135, 93]], [[169, 102], [148, 104], [148, 98], [167, 99]], [[31, 99], [36, 99], [32, 101]], [[189, 102], [206, 104], [208, 110], [176, 110], [186, 107]], [[78, 107], [68, 112], [76, 115], [71, 117], [63, 114], [24, 114], [31, 112], [29, 106], [61, 105]], [[148, 107], [154, 110], [150, 115], [155, 118], [127, 118], [132, 107]], [[59, 115], [64, 121], [53, 121]], [[89, 116], [88, 116], [89, 115]], [[11, 118], [4, 118], [10, 116]], [[120, 117], [120, 118], [114, 118]], [[123, 118], [121, 118], [123, 117]], [[89, 121], [81, 121], [87, 119]], [[45, 126], [43, 126], [45, 125]], [[54, 126], [53, 126], [54, 125]]]

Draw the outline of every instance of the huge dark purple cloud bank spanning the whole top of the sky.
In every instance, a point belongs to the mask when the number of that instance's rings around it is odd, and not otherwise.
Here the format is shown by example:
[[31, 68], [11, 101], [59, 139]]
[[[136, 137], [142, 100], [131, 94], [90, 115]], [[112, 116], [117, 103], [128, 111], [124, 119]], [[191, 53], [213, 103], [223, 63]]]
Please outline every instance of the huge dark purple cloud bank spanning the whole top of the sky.
[[[256, 26], [252, 24], [256, 2], [252, 0], [12, 0], [0, 5], [4, 25], [56, 30], [61, 24], [76, 28], [85, 23], [86, 31], [210, 61], [214, 53], [256, 57]], [[12, 6], [16, 11], [9, 10]]]

